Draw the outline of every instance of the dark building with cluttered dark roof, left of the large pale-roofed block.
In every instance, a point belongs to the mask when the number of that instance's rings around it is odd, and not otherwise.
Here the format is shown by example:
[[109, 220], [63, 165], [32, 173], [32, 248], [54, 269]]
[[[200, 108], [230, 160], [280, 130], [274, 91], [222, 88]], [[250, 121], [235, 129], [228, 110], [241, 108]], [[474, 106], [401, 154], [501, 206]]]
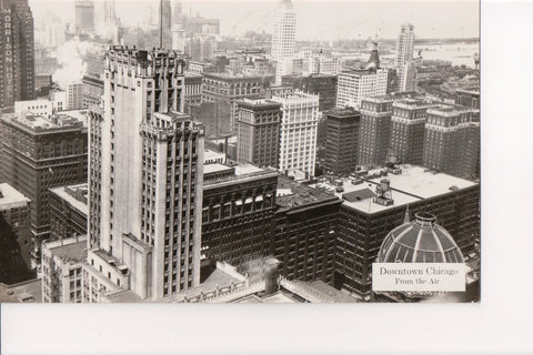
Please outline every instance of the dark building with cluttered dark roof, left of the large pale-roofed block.
[[280, 261], [280, 275], [333, 285], [335, 230], [342, 201], [280, 176], [275, 203], [270, 255]]

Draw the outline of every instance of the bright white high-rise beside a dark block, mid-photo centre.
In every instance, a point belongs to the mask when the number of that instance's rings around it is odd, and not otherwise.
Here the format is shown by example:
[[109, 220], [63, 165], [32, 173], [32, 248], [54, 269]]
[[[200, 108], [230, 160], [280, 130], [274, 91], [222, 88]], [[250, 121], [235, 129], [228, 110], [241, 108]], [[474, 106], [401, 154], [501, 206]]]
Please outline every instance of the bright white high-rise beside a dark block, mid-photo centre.
[[314, 176], [316, 160], [316, 126], [319, 97], [295, 91], [285, 97], [272, 97], [281, 104], [280, 160], [283, 173], [301, 171], [306, 179]]

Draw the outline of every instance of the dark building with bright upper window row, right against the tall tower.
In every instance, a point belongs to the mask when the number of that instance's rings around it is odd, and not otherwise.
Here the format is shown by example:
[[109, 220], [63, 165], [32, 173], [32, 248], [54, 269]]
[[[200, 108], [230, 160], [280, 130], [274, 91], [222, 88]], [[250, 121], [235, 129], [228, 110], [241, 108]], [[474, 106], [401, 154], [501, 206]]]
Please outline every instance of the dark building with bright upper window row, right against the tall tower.
[[245, 272], [268, 255], [278, 172], [250, 164], [204, 166], [202, 256]]

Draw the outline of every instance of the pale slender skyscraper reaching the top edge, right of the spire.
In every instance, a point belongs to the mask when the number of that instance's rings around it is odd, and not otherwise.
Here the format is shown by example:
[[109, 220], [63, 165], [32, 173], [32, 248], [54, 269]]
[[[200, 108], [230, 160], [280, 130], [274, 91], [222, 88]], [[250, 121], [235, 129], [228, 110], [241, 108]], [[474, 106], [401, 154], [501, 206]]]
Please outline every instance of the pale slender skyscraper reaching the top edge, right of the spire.
[[280, 0], [274, 14], [272, 60], [279, 61], [294, 54], [296, 43], [296, 14], [291, 0]]

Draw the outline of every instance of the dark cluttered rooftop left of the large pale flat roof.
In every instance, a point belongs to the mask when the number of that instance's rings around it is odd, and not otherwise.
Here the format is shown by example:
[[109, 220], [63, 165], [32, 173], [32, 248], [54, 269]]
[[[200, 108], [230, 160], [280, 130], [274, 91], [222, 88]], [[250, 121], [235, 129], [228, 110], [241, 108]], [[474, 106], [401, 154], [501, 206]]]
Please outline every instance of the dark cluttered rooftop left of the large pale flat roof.
[[278, 178], [275, 204], [280, 207], [280, 211], [325, 202], [340, 203], [341, 200], [328, 193], [325, 189], [310, 187], [284, 175]]

